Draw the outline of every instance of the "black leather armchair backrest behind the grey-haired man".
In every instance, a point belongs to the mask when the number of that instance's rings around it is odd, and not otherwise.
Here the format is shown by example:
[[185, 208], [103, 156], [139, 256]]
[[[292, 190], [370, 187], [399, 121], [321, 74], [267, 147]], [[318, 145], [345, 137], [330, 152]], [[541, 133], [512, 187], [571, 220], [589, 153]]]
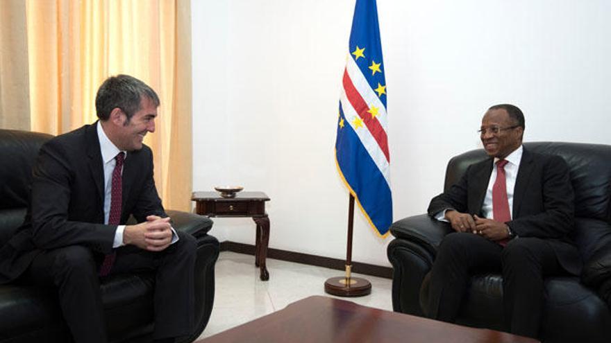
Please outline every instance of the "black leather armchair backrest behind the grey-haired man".
[[0, 246], [22, 224], [29, 202], [32, 167], [50, 134], [0, 129]]

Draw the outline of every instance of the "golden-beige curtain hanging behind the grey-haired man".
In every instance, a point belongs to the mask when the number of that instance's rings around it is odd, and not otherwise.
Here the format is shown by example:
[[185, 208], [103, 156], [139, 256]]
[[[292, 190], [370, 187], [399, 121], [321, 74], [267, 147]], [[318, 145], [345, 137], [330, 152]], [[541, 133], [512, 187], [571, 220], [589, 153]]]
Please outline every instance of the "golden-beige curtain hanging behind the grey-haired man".
[[[4, 5], [6, 0], [0, 1]], [[147, 135], [145, 141], [155, 156], [160, 197], [169, 209], [189, 211], [192, 184], [190, 0], [9, 0], [8, 3], [12, 8], [0, 12], [3, 32], [0, 100], [6, 98], [5, 84], [11, 84], [5, 80], [13, 77], [11, 73], [20, 73], [22, 80], [17, 88], [22, 93], [28, 89], [28, 94], [22, 94], [27, 100], [19, 102], [27, 103], [28, 108], [20, 109], [22, 115], [18, 119], [6, 116], [6, 126], [29, 123], [30, 130], [50, 134], [74, 130], [96, 120], [95, 93], [108, 76], [125, 73], [140, 78], [157, 91], [161, 100], [156, 132]], [[6, 11], [12, 12], [12, 16], [5, 15]], [[6, 17], [23, 20], [5, 23]], [[19, 46], [17, 38], [5, 38], [7, 30], [24, 31], [26, 46]], [[4, 49], [6, 40], [12, 46]], [[6, 67], [5, 55], [11, 59], [12, 67], [18, 68]], [[6, 88], [7, 92], [17, 91]], [[3, 118], [10, 112], [6, 106], [12, 106], [7, 104], [0, 106]], [[5, 127], [5, 119], [0, 124]]]

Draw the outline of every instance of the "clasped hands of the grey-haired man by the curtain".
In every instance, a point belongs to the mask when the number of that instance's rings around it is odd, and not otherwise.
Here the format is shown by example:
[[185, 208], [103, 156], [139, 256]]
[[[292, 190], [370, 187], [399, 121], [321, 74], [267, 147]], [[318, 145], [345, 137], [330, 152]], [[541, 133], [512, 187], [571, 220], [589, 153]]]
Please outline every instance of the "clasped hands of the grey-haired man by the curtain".
[[127, 225], [123, 231], [123, 242], [151, 252], [160, 252], [171, 243], [169, 220], [169, 217], [148, 216], [146, 222]]

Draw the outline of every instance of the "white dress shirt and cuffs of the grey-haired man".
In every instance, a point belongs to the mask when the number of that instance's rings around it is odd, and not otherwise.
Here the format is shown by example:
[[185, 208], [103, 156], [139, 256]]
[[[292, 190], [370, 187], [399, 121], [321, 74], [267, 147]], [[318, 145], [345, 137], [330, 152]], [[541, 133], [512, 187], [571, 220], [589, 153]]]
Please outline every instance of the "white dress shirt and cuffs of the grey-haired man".
[[[112, 171], [115, 170], [115, 165], [117, 161], [115, 161], [115, 157], [119, 152], [124, 152], [125, 157], [127, 159], [128, 154], [125, 150], [119, 150], [117, 146], [115, 146], [108, 136], [106, 136], [106, 132], [102, 128], [102, 124], [98, 121], [97, 124], [97, 132], [98, 132], [98, 141], [100, 142], [100, 152], [102, 153], [102, 164], [104, 166], [104, 224], [108, 225], [108, 218], [110, 218], [110, 197], [112, 192]], [[121, 174], [123, 175], [123, 169], [121, 170]], [[178, 235], [174, 228], [172, 230], [172, 239], [171, 244], [176, 243], [178, 241]], [[122, 247], [123, 243], [123, 231], [125, 231], [125, 225], [117, 226], [117, 231], [115, 231], [115, 240], [112, 243], [112, 247]]]

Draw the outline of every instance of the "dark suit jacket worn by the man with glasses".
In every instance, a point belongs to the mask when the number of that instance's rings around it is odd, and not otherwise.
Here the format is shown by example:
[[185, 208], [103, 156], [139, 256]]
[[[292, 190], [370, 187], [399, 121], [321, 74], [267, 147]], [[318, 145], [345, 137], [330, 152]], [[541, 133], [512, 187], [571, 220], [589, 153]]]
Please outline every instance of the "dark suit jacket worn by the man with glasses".
[[[489, 158], [469, 166], [457, 184], [430, 201], [428, 214], [435, 216], [451, 208], [482, 216], [493, 161]], [[567, 272], [580, 273], [580, 257], [570, 238], [575, 227], [574, 193], [562, 157], [524, 148], [514, 188], [512, 220], [507, 224], [519, 237], [543, 238]]]

